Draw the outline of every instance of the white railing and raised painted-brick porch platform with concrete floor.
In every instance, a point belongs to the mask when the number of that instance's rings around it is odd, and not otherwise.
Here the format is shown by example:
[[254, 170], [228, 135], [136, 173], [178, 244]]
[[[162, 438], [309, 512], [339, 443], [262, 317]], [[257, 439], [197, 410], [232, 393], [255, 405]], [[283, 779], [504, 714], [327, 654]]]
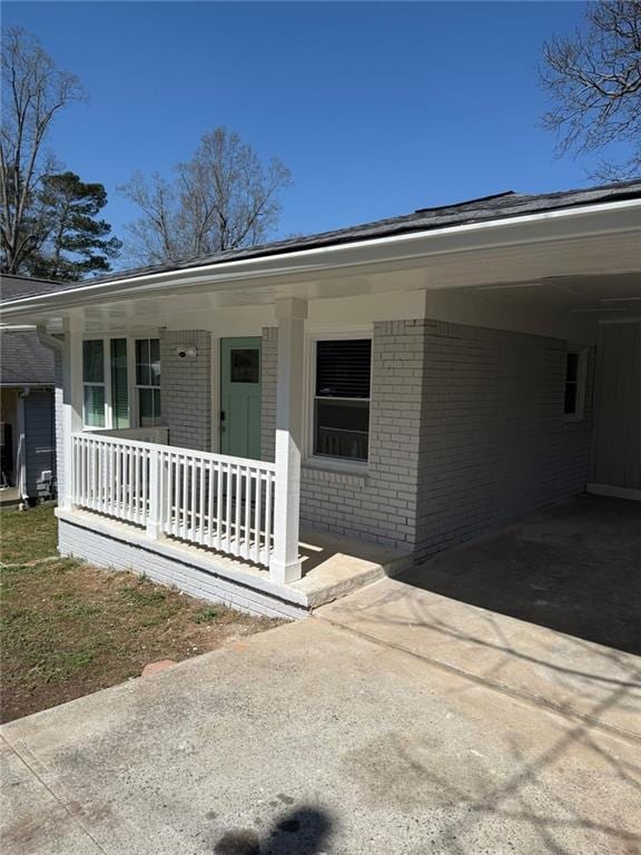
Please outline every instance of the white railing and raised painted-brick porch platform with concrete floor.
[[61, 551], [284, 617], [410, 567], [404, 552], [297, 525], [297, 576], [283, 581], [275, 463], [174, 448], [164, 428], [145, 432], [158, 442], [127, 433], [141, 431], [72, 434]]

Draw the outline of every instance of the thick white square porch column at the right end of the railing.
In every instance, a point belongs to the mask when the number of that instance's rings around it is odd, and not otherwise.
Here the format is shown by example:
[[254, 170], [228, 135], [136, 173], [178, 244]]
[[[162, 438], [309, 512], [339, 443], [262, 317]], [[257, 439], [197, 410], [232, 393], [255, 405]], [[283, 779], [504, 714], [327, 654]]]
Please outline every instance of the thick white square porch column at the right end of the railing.
[[300, 449], [307, 301], [276, 302], [278, 318], [278, 386], [276, 391], [276, 488], [274, 552], [269, 574], [280, 584], [300, 579], [298, 529]]

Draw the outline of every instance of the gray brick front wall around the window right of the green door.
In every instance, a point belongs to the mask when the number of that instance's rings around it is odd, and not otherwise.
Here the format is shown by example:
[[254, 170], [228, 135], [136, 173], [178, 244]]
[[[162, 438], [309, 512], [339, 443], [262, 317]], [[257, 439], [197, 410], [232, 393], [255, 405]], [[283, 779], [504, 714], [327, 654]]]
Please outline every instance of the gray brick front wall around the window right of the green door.
[[[414, 547], [424, 321], [374, 325], [367, 472], [304, 465], [303, 524], [401, 549]], [[274, 454], [276, 331], [263, 334], [263, 451]]]

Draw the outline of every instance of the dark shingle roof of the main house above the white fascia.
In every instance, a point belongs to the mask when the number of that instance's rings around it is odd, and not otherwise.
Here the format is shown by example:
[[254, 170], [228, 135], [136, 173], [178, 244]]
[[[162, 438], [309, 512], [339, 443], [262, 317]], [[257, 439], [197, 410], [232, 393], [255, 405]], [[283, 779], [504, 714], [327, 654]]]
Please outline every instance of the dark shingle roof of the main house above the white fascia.
[[[491, 220], [522, 217], [530, 214], [543, 214], [545, 212], [561, 210], [563, 208], [599, 205], [602, 203], [622, 202], [625, 199], [641, 198], [641, 178], [630, 181], [619, 181], [601, 187], [586, 189], [563, 190], [559, 193], [544, 193], [538, 195], [519, 194], [513, 191], [501, 193], [494, 196], [484, 196], [479, 199], [470, 199], [454, 205], [442, 205], [433, 208], [420, 208], [412, 214], [400, 217], [381, 219], [374, 223], [365, 223], [351, 228], [341, 228], [333, 232], [324, 232], [305, 237], [293, 237], [286, 240], [276, 240], [260, 246], [250, 246], [243, 249], [229, 249], [215, 255], [201, 256], [179, 262], [168, 262], [148, 267], [138, 267], [131, 271], [121, 271], [98, 278], [87, 279], [83, 283], [50, 283], [52, 291], [66, 291], [100, 285], [102, 283], [119, 282], [127, 278], [136, 278], [154, 273], [167, 273], [224, 264], [226, 262], [245, 258], [260, 258], [273, 255], [293, 253], [303, 249], [338, 246], [355, 242], [392, 237], [413, 232], [428, 232], [431, 229], [448, 228], [466, 224], [476, 224]], [[42, 291], [27, 291], [21, 297], [37, 296]], [[13, 297], [18, 298], [18, 297]]]

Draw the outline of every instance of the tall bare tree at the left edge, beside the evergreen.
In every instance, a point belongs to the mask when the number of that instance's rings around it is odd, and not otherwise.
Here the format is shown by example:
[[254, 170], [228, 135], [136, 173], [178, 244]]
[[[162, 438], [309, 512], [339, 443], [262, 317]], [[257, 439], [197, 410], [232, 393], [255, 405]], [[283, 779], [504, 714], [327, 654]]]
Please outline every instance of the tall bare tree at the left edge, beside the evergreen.
[[3, 33], [0, 240], [8, 273], [42, 243], [37, 189], [55, 167], [43, 145], [56, 114], [81, 97], [78, 79], [58, 69], [36, 38], [19, 28]]

